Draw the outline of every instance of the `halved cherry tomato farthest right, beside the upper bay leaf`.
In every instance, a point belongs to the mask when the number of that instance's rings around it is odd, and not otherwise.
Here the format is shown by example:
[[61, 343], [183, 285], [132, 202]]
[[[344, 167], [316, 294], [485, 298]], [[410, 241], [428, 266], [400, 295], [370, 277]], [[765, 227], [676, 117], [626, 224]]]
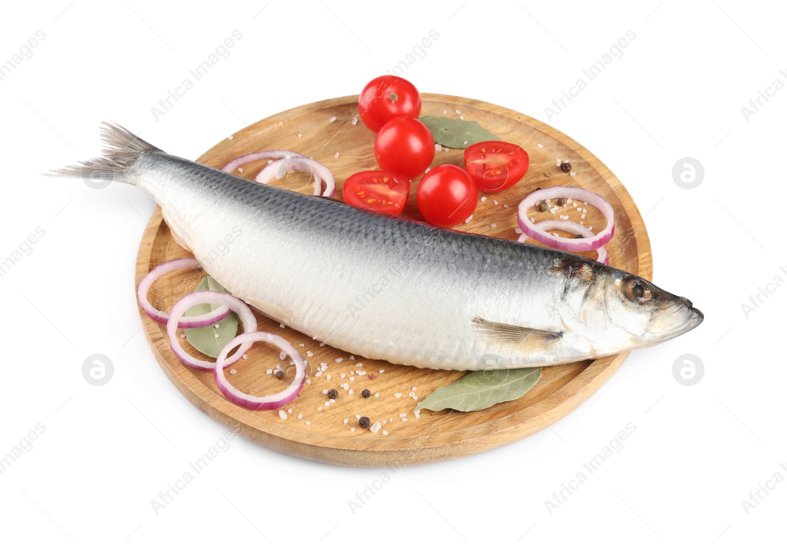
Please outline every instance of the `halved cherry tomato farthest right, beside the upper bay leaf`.
[[464, 150], [464, 167], [485, 193], [508, 189], [523, 178], [528, 166], [527, 151], [508, 142], [478, 142]]

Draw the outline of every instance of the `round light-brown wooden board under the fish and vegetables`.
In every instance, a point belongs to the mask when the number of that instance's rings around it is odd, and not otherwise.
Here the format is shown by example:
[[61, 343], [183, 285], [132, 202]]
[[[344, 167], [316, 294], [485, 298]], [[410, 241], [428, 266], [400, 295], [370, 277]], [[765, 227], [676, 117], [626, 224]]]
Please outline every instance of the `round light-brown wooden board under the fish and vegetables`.
[[[600, 193], [615, 208], [615, 237], [607, 245], [611, 266], [651, 278], [650, 243], [637, 207], [618, 178], [582, 145], [536, 119], [507, 108], [443, 94], [423, 94], [422, 98], [422, 115], [456, 118], [460, 115], [456, 110], [460, 110], [464, 119], [478, 121], [507, 142], [521, 143], [530, 154], [530, 169], [524, 180], [502, 193], [482, 195], [486, 196], [486, 201], [479, 201], [471, 221], [457, 228], [516, 239], [516, 205], [527, 193], [552, 185], [582, 186]], [[332, 118], [335, 119], [331, 121]], [[353, 119], [358, 119], [356, 96], [303, 105], [249, 125], [222, 140], [198, 161], [220, 168], [232, 158], [252, 151], [292, 149], [331, 168], [338, 186], [337, 197], [341, 198], [345, 178], [354, 172], [377, 167], [373, 152], [375, 134], [360, 119], [353, 124]], [[560, 171], [556, 166], [558, 159], [569, 161], [575, 175]], [[438, 164], [461, 166], [463, 160], [463, 149], [439, 151], [432, 167]], [[267, 161], [246, 164], [242, 174], [236, 174], [253, 179], [264, 164]], [[415, 201], [418, 181], [419, 178], [413, 180], [404, 215], [421, 219]], [[303, 193], [312, 192], [308, 175], [304, 173], [292, 173], [274, 183]], [[508, 204], [508, 208], [504, 208], [504, 204]], [[580, 220], [580, 212], [571, 204], [559, 213], [568, 213], [572, 220]], [[537, 220], [555, 217], [549, 211], [534, 211], [533, 215]], [[596, 231], [604, 227], [604, 219], [595, 209], [588, 209], [583, 220]], [[595, 252], [584, 255], [596, 256]], [[173, 241], [168, 226], [161, 219], [161, 209], [157, 208], [139, 246], [136, 284], [139, 285], [154, 266], [184, 256], [190, 254]], [[319, 266], [315, 263], [316, 270]], [[316, 276], [319, 278], [319, 274]], [[153, 285], [149, 299], [155, 307], [168, 311], [179, 297], [193, 290], [200, 279], [199, 270], [167, 274]], [[257, 314], [258, 329], [280, 334], [309, 361], [307, 371], [312, 383], [305, 385], [301, 395], [286, 406], [293, 411], [283, 420], [277, 410], [253, 412], [229, 402], [216, 388], [212, 373], [183, 366], [173, 355], [164, 325], [153, 322], [141, 309], [140, 316], [153, 355], [176, 388], [194, 406], [227, 427], [240, 428], [243, 436], [266, 447], [338, 465], [416, 465], [475, 454], [523, 439], [582, 404], [615, 373], [627, 355], [545, 368], [541, 380], [527, 395], [486, 410], [471, 413], [423, 410], [416, 418], [412, 410], [417, 401], [408, 395], [412, 388], [417, 388], [415, 395], [423, 400], [435, 388], [459, 379], [464, 373], [416, 369], [364, 358], [350, 360], [349, 353], [331, 346], [321, 347], [311, 337], [293, 329], [280, 329], [279, 323]], [[185, 340], [182, 344], [194, 355], [199, 355]], [[278, 350], [263, 343], [255, 344], [249, 351], [249, 358], [235, 365], [238, 373], [227, 373], [227, 377], [236, 387], [249, 393], [262, 395], [265, 391], [279, 391], [284, 386], [283, 381], [266, 373], [280, 363], [277, 355]], [[337, 362], [339, 358], [343, 360]], [[317, 377], [316, 367], [321, 362], [327, 363], [328, 370]], [[360, 369], [357, 363], [361, 363], [368, 374], [353, 376], [354, 380], [349, 381], [350, 372]], [[289, 367], [286, 363], [283, 366]], [[286, 369], [292, 370], [291, 367]], [[340, 377], [341, 373], [345, 373], [345, 378]], [[375, 379], [369, 380], [372, 373]], [[327, 380], [328, 374], [331, 380]], [[342, 391], [339, 388], [342, 383], [349, 383], [355, 394]], [[327, 395], [322, 391], [327, 388], [342, 391], [331, 406], [323, 406]], [[372, 395], [379, 393], [379, 397], [362, 398], [360, 391], [364, 388], [370, 389]], [[401, 396], [397, 398], [395, 393]], [[303, 417], [299, 418], [299, 414]], [[383, 436], [382, 432], [375, 434], [360, 428], [357, 414], [368, 416], [372, 422], [392, 418], [393, 421], [382, 426], [389, 434]], [[402, 421], [400, 414], [406, 414], [408, 421]], [[349, 420], [347, 424], [343, 423], [345, 418]]]

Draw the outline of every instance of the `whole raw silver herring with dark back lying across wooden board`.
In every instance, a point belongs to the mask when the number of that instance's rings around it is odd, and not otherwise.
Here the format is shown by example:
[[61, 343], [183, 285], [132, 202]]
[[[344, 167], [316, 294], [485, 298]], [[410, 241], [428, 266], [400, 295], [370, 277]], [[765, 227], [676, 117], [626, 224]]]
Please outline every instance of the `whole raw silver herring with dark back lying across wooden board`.
[[350, 354], [430, 369], [554, 366], [671, 340], [702, 312], [581, 255], [268, 186], [102, 123], [102, 156], [52, 171], [125, 182], [206, 274]]

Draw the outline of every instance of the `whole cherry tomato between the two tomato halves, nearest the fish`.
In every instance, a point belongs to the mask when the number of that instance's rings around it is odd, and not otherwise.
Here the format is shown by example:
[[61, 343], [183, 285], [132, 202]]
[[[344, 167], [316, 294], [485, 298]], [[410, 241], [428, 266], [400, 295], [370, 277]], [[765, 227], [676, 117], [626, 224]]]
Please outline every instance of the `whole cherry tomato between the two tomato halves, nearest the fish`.
[[417, 197], [424, 219], [437, 226], [455, 226], [473, 215], [478, 188], [464, 168], [442, 164], [423, 175]]

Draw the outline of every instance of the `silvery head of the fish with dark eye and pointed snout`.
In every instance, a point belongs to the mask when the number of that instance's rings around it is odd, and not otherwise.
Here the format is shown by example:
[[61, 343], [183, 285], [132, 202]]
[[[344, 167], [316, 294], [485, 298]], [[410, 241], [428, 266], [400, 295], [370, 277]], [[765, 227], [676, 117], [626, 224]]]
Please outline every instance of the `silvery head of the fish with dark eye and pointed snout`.
[[652, 282], [610, 269], [605, 285], [605, 313], [611, 325], [630, 335], [631, 347], [648, 347], [694, 329], [704, 319], [685, 296]]

